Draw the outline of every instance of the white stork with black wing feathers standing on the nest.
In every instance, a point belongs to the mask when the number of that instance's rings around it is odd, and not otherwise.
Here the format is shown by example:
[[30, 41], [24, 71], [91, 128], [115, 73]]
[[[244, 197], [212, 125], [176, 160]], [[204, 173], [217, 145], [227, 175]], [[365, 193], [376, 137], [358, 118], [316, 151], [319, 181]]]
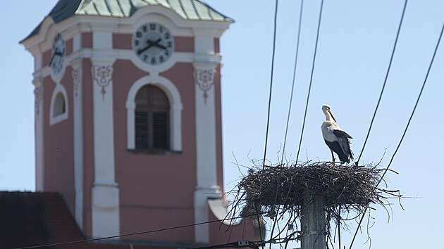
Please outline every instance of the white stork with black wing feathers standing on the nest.
[[330, 106], [322, 106], [323, 114], [326, 115], [326, 121], [322, 123], [321, 130], [323, 140], [326, 141], [328, 148], [331, 151], [331, 158], [335, 162], [333, 151], [338, 154], [341, 163], [350, 162], [353, 160], [353, 153], [350, 149], [350, 140], [352, 136], [344, 132], [336, 124], [335, 117], [331, 113]]

